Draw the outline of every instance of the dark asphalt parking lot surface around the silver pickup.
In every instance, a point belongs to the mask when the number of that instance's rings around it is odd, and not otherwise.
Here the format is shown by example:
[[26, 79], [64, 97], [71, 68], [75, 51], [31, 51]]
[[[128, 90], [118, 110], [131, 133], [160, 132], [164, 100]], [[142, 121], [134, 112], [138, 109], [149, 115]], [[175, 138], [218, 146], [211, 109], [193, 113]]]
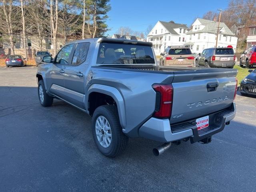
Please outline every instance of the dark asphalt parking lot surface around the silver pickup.
[[256, 98], [236, 96], [236, 118], [210, 144], [134, 138], [106, 158], [91, 118], [54, 100], [39, 104], [36, 68], [0, 69], [0, 191], [256, 191]]

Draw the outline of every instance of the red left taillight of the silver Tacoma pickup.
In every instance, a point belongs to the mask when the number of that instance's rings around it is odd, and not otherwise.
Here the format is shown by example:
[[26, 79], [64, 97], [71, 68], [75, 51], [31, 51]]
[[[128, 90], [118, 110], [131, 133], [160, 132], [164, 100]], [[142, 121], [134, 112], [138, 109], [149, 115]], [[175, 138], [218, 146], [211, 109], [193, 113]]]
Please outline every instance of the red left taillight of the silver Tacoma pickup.
[[172, 84], [154, 84], [153, 89], [157, 92], [156, 110], [154, 117], [169, 118], [172, 114], [173, 86]]

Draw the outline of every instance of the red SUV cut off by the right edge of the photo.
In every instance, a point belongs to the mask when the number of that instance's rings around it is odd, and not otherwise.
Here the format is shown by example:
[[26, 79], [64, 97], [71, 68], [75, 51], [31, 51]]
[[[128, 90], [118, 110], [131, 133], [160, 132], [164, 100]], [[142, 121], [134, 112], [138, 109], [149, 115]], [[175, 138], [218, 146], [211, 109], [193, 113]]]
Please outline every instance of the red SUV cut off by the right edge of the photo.
[[245, 52], [242, 52], [239, 65], [241, 67], [245, 65], [246, 68], [256, 66], [256, 46], [252, 46]]

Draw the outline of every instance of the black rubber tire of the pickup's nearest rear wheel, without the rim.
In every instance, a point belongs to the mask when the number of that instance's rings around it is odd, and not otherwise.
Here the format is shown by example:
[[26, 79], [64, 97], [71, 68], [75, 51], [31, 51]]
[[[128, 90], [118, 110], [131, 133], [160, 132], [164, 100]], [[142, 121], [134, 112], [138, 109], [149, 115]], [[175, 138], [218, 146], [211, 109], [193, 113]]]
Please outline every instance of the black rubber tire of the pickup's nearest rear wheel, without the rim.
[[[96, 136], [96, 120], [103, 116], [108, 120], [111, 129], [111, 142], [108, 147], [103, 147]], [[96, 108], [92, 116], [92, 136], [98, 150], [106, 157], [115, 157], [124, 152], [128, 145], [128, 137], [122, 132], [116, 106], [103, 105]]]

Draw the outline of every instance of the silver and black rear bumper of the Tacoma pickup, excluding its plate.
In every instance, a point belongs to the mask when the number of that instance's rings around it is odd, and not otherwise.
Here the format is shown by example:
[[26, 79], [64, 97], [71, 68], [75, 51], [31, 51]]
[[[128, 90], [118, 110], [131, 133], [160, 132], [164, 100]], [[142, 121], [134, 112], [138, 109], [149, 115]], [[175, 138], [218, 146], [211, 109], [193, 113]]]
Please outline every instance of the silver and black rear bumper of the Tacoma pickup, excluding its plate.
[[190, 138], [190, 142], [194, 143], [221, 132], [225, 123], [234, 119], [235, 116], [236, 104], [233, 102], [228, 109], [209, 114], [210, 126], [199, 131], [196, 128], [196, 119], [170, 125], [169, 119], [150, 118], [140, 127], [139, 135], [159, 142], [173, 142]]

